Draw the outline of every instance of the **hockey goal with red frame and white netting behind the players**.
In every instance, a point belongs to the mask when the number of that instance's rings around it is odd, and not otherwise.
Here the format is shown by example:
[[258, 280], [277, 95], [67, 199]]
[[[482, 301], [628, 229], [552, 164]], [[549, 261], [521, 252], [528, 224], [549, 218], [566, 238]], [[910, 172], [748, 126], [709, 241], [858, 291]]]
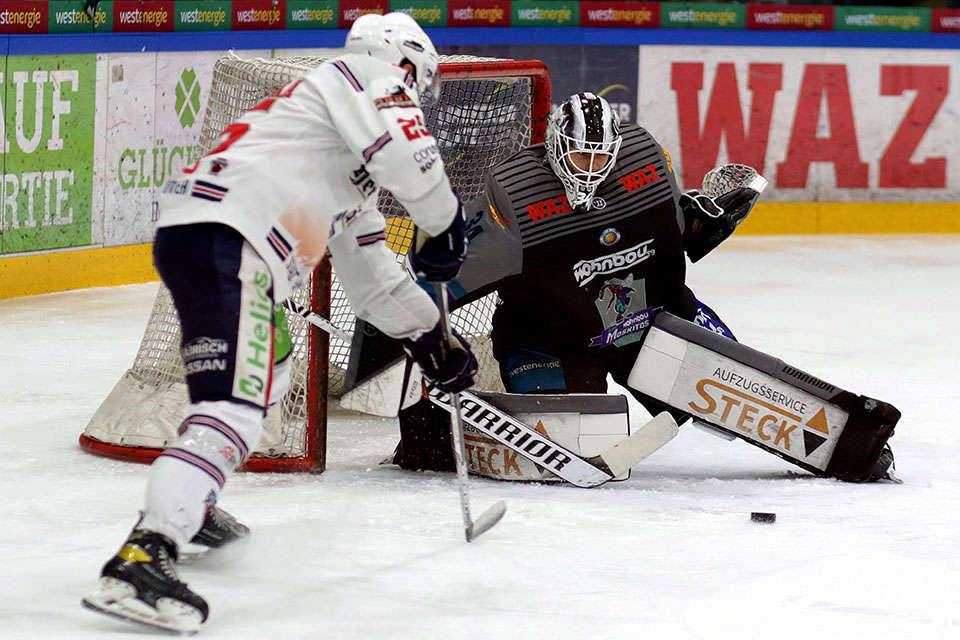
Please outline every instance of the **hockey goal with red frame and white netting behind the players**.
[[[324, 58], [244, 60], [228, 55], [214, 67], [200, 148], [265, 97], [314, 68]], [[539, 61], [441, 56], [440, 101], [427, 105], [428, 127], [437, 139], [450, 182], [464, 202], [478, 197], [487, 171], [524, 146], [542, 142], [550, 111], [550, 76]], [[412, 224], [403, 207], [381, 190], [387, 242], [398, 261]], [[295, 295], [298, 303], [353, 330], [354, 316], [331, 273], [329, 260]], [[489, 331], [495, 297], [478, 300], [453, 315], [480, 360], [478, 386], [502, 390]], [[260, 442], [244, 463], [248, 471], [323, 471], [328, 395], [339, 395], [350, 345], [288, 313], [293, 342], [290, 390], [272, 406]], [[176, 438], [189, 404], [180, 358], [180, 322], [161, 283], [133, 366], [116, 384], [80, 436], [98, 455], [149, 462]]]

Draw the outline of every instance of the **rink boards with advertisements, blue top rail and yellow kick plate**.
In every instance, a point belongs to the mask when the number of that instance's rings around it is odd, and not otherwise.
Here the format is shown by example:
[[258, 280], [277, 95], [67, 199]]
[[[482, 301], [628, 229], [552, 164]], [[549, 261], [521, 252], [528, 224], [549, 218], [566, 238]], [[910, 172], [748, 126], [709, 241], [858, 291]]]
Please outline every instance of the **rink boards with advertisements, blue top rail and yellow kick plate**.
[[[723, 162], [758, 168], [770, 189], [738, 233], [960, 233], [953, 40], [737, 35], [431, 30], [442, 53], [544, 60], [554, 102], [604, 95], [657, 136], [685, 188]], [[197, 157], [216, 59], [335, 53], [343, 37], [0, 37], [0, 298], [156, 279], [157, 192]]]

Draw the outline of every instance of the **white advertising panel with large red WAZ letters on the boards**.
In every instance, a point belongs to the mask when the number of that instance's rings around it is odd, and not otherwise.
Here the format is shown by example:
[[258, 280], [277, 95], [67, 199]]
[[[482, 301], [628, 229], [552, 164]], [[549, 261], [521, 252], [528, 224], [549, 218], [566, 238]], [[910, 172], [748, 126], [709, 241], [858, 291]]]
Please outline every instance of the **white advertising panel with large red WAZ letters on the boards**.
[[742, 162], [765, 201], [952, 201], [958, 73], [946, 50], [643, 46], [639, 122], [686, 189]]

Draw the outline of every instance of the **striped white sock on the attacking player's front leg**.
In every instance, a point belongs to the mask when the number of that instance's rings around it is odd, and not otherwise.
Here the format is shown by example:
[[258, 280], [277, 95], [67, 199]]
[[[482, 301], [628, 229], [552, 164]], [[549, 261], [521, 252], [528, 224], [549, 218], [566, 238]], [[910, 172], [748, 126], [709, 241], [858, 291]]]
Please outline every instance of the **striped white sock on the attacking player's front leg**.
[[150, 468], [139, 527], [169, 536], [178, 546], [200, 530], [207, 504], [260, 439], [263, 413], [235, 402], [198, 402], [179, 437]]

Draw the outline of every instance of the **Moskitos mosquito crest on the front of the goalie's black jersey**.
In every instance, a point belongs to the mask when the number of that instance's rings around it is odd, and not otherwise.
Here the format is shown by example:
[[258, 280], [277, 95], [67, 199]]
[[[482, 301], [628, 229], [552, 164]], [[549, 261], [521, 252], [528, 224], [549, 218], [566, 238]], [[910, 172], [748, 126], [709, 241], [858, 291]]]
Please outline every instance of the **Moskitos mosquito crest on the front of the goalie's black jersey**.
[[604, 329], [599, 336], [590, 338], [591, 347], [611, 344], [623, 347], [636, 342], [643, 337], [643, 332], [659, 310], [647, 308], [643, 278], [634, 282], [632, 273], [623, 279], [605, 280], [594, 304], [600, 312]]

